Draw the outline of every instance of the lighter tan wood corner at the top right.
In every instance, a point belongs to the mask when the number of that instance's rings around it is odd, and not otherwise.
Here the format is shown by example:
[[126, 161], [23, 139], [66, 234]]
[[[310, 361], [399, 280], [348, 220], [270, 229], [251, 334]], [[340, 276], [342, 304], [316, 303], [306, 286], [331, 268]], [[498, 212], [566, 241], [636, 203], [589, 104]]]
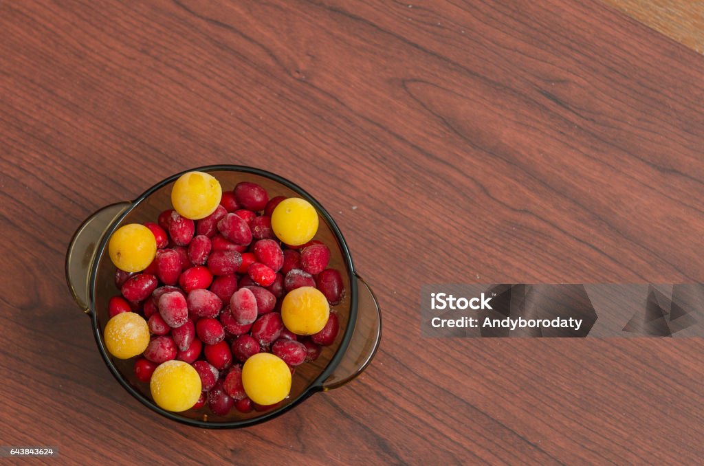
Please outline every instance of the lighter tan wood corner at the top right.
[[691, 0], [603, 0], [641, 23], [704, 53], [704, 2]]

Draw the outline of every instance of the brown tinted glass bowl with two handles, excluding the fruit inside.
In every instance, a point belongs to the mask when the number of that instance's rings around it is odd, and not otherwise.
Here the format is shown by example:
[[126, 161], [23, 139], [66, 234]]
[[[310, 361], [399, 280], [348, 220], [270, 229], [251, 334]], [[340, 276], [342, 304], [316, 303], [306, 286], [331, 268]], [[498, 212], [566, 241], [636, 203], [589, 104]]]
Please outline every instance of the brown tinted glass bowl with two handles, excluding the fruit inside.
[[[234, 408], [226, 416], [213, 415], [206, 406], [183, 413], [171, 413], [159, 408], [151, 399], [149, 384], [139, 382], [132, 367], [134, 358], [120, 360], [106, 351], [103, 329], [108, 322], [108, 300], [119, 294], [115, 288], [115, 266], [107, 253], [107, 243], [118, 227], [127, 223], [156, 222], [159, 213], [171, 207], [171, 187], [182, 175], [177, 173], [159, 182], [134, 201], [111, 204], [98, 210], [78, 227], [66, 253], [66, 282], [76, 303], [89, 315], [98, 350], [108, 369], [142, 404], [171, 420], [197, 427], [246, 427], [270, 420], [318, 391], [334, 389], [357, 377], [374, 357], [381, 339], [381, 315], [372, 290], [354, 270], [347, 244], [332, 217], [318, 201], [289, 180], [257, 168], [240, 165], [209, 165], [196, 168], [208, 172], [225, 189], [234, 188], [243, 181], [263, 186], [270, 197], [301, 197], [318, 210], [320, 227], [315, 239], [323, 241], [332, 253], [329, 267], [342, 275], [345, 294], [337, 311], [340, 333], [332, 346], [323, 348], [320, 357], [312, 363], [296, 368], [291, 393], [275, 408], [268, 411], [239, 413]], [[191, 171], [191, 170], [187, 170]]]

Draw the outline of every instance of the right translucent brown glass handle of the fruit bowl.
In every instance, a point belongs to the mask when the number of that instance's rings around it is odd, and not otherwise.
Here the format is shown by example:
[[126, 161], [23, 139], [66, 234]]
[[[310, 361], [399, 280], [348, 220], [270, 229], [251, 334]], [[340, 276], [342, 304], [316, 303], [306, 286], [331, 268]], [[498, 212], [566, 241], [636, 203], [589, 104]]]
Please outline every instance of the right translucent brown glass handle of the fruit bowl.
[[323, 382], [323, 390], [337, 389], [361, 374], [374, 358], [382, 339], [382, 315], [377, 298], [359, 275], [356, 279], [359, 284], [357, 322], [347, 351]]

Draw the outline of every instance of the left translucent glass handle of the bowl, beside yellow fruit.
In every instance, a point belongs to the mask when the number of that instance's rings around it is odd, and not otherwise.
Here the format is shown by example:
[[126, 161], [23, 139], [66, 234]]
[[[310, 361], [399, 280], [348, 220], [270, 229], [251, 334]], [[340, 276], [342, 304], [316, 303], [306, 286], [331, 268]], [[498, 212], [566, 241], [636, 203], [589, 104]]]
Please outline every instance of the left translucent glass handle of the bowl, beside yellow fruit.
[[105, 206], [83, 221], [73, 234], [66, 252], [66, 284], [84, 313], [90, 313], [88, 282], [100, 241], [115, 218], [130, 207], [130, 202]]

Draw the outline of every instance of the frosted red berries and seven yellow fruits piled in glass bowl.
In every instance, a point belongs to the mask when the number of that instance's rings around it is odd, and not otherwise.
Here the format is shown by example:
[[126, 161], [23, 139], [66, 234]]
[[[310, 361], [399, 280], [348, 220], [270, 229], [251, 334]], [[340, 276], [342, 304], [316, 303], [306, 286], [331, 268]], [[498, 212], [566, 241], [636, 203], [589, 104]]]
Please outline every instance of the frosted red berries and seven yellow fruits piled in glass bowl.
[[318, 213], [251, 182], [222, 192], [203, 172], [182, 175], [171, 199], [157, 222], [110, 239], [120, 294], [108, 303], [106, 348], [137, 357], [137, 379], [165, 410], [270, 409], [296, 366], [339, 333], [330, 306], [344, 284], [313, 239]]

